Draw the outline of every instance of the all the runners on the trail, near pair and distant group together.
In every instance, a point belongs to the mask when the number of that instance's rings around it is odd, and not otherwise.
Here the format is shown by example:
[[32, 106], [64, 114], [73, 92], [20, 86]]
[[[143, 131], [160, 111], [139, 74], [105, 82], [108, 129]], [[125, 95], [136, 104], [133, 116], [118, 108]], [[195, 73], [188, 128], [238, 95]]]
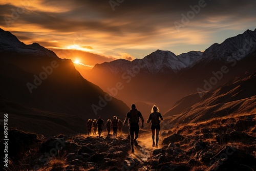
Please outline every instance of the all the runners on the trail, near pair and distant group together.
[[[159, 112], [159, 108], [156, 105], [153, 106], [151, 110], [151, 114], [148, 116], [147, 123], [151, 123], [151, 131], [152, 131], [152, 146], [158, 147], [159, 141], [159, 132], [160, 132], [160, 122], [163, 120], [161, 113]], [[131, 110], [127, 112], [124, 122], [120, 119], [117, 119], [116, 116], [113, 117], [113, 120], [108, 119], [106, 121], [106, 132], [109, 135], [111, 132], [111, 128], [113, 130], [113, 136], [117, 137], [117, 132], [119, 135], [122, 133], [122, 125], [126, 125], [129, 123], [129, 133], [130, 133], [130, 144], [131, 144], [131, 152], [134, 153], [134, 146], [138, 145], [137, 139], [139, 137], [139, 122], [141, 120], [141, 128], [144, 127], [144, 118], [141, 115], [141, 112], [136, 109], [136, 105], [131, 105]], [[98, 130], [98, 136], [100, 137], [103, 130], [104, 121], [99, 117], [98, 120], [89, 119], [87, 122], [88, 136], [90, 134], [96, 135], [96, 130]], [[92, 133], [93, 131], [93, 133]], [[156, 137], [156, 139], [155, 139]], [[155, 141], [156, 140], [156, 141]]]

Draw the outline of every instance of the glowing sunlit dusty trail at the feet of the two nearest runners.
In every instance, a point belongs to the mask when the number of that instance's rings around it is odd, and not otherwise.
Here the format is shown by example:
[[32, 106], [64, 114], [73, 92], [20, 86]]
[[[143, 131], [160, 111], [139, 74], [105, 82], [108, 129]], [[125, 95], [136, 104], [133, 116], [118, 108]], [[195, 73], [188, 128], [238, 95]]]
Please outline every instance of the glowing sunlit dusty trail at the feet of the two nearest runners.
[[[134, 147], [134, 154], [131, 153], [129, 157], [126, 158], [125, 161], [127, 164], [122, 168], [122, 170], [151, 170], [150, 166], [146, 162], [154, 149], [157, 149], [156, 147], [152, 147], [152, 134], [139, 134], [137, 141], [138, 146]], [[161, 148], [160, 144], [158, 145], [158, 148]]]

